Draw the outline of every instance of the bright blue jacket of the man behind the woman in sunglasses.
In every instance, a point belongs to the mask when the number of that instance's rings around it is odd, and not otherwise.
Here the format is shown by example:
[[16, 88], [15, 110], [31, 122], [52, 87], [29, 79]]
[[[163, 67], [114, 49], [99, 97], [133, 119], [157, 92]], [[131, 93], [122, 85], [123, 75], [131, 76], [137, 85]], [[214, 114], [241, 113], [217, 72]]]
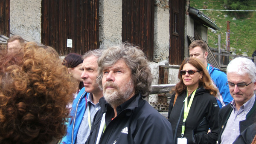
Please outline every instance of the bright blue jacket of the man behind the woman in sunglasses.
[[209, 63], [207, 65], [207, 70], [212, 78], [212, 81], [220, 92], [219, 95], [217, 94], [217, 102], [219, 107], [222, 108], [233, 100], [232, 96], [230, 95], [229, 88], [226, 86], [227, 75]]

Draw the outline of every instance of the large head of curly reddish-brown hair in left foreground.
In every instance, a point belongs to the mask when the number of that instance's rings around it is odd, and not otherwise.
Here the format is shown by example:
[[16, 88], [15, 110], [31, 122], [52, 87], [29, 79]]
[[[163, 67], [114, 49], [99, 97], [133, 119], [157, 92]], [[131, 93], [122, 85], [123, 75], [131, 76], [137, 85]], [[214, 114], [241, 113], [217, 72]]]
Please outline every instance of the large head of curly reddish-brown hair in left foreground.
[[76, 88], [67, 68], [35, 43], [0, 52], [0, 143], [57, 143], [66, 132]]

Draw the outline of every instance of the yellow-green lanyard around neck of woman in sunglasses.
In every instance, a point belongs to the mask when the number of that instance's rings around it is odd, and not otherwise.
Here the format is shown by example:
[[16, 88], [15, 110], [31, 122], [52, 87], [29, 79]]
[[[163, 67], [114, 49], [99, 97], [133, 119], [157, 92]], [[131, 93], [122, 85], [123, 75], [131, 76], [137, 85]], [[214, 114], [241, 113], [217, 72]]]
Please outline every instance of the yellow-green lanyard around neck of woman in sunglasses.
[[[196, 91], [197, 89], [195, 89]], [[195, 91], [192, 93], [191, 95], [191, 98], [190, 98], [190, 101], [189, 101], [189, 105], [188, 105], [188, 92], [187, 92], [187, 96], [185, 98], [185, 106], [184, 106], [184, 119], [183, 119], [183, 124], [182, 124], [182, 131], [181, 131], [181, 138], [183, 138], [183, 135], [184, 135], [184, 132], [185, 132], [185, 123], [186, 123], [186, 118], [188, 117], [189, 115], [189, 109], [191, 107], [191, 104], [192, 104], [192, 101], [194, 99], [194, 96], [195, 96]]]

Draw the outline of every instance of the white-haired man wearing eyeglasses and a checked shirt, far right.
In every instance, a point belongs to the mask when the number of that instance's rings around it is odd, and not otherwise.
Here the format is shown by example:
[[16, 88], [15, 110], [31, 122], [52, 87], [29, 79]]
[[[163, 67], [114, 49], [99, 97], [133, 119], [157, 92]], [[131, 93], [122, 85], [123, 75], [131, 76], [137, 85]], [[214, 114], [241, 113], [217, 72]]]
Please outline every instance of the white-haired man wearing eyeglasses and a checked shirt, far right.
[[219, 111], [219, 144], [232, 144], [253, 124], [256, 115], [256, 66], [247, 58], [235, 58], [227, 66], [227, 83], [234, 98]]

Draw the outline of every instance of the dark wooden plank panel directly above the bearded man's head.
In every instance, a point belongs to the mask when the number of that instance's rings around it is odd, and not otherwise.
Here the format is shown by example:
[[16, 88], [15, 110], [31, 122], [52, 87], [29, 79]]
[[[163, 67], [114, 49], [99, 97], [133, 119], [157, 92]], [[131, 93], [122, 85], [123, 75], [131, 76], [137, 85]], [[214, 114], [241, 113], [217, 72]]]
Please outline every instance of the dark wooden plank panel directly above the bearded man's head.
[[154, 0], [122, 0], [122, 42], [128, 41], [154, 57]]

